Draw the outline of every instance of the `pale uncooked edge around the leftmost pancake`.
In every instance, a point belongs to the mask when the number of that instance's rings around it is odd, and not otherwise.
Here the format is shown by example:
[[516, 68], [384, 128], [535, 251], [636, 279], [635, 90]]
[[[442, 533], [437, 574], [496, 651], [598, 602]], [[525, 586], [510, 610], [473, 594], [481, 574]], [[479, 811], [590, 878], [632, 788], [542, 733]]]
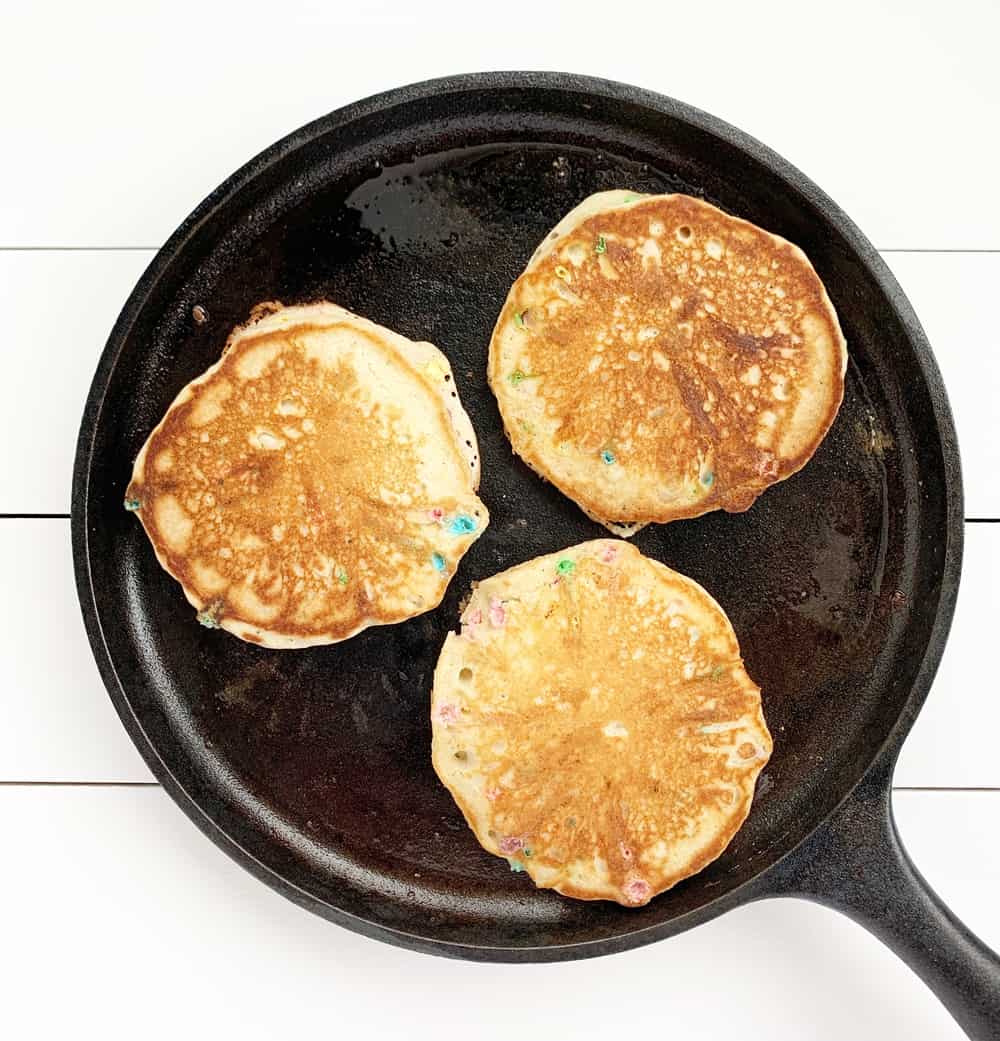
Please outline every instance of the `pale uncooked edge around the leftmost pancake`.
[[[160, 422], [150, 431], [149, 436], [146, 438], [142, 449], [139, 449], [138, 455], [135, 457], [135, 462], [132, 466], [131, 480], [138, 481], [140, 483], [144, 481], [146, 474], [146, 456], [148, 454], [149, 447], [153, 441], [153, 438], [163, 427], [163, 424], [166, 423], [166, 418], [171, 412], [173, 412], [178, 406], [190, 401], [190, 399], [195, 396], [195, 388], [201, 386], [203, 383], [207, 383], [219, 372], [223, 360], [229, 351], [231, 351], [243, 339], [255, 338], [259, 335], [275, 332], [280, 329], [294, 328], [299, 325], [318, 325], [326, 328], [333, 328], [338, 325], [352, 324], [355, 326], [360, 325], [371, 335], [390, 346], [398, 356], [401, 364], [406, 366], [406, 369], [408, 369], [418, 379], [422, 380], [438, 396], [444, 412], [451, 421], [452, 430], [455, 434], [455, 446], [459, 455], [469, 463], [471, 490], [473, 492], [477, 491], [479, 489], [480, 481], [479, 442], [476, 439], [476, 431], [472, 429], [472, 422], [469, 420], [468, 413], [462, 407], [461, 400], [458, 397], [458, 388], [455, 387], [455, 377], [452, 374], [452, 366], [448, 363], [447, 358], [433, 344], [418, 342], [407, 339], [405, 336], [392, 332], [391, 329], [386, 329], [384, 326], [380, 326], [375, 322], [369, 322], [367, 319], [345, 310], [337, 304], [327, 302], [322, 304], [305, 304], [297, 307], [285, 307], [277, 301], [268, 301], [257, 304], [251, 310], [250, 319], [242, 325], [237, 326], [230, 333], [228, 339], [226, 340], [226, 345], [220, 354], [219, 360], [209, 365], [209, 367], [206, 369], [200, 376], [196, 377], [189, 383], [186, 383], [180, 389], [177, 397], [171, 402], [166, 411], [163, 413], [163, 418], [160, 420]], [[430, 366], [430, 371], [428, 366]], [[444, 380], [445, 374], [452, 377], [451, 380]], [[451, 390], [455, 391], [454, 398], [450, 392]], [[142, 522], [142, 517], [139, 520]], [[487, 514], [481, 530], [485, 530], [488, 524], [489, 516]], [[177, 576], [175, 576], [171, 570], [168, 560], [163, 554], [160, 553], [155, 541], [153, 539], [150, 539], [149, 541], [153, 547], [153, 553], [156, 555], [156, 559], [160, 567], [162, 567], [168, 575], [171, 575], [176, 579]], [[178, 584], [180, 585], [181, 590], [184, 593], [184, 599], [187, 603], [190, 604], [196, 611], [203, 611], [206, 607], [205, 601], [197, 596], [180, 580], [178, 580]], [[429, 608], [429, 610], [430, 609], [433, 609], [433, 607]], [[358, 633], [363, 632], [365, 629], [383, 624], [384, 623], [379, 623], [375, 619], [366, 618], [362, 620], [356, 629], [353, 629], [336, 642], [342, 642], [343, 640], [351, 639], [351, 637], [357, 636]], [[257, 646], [268, 648], [273, 651], [294, 651], [312, 646], [329, 646], [331, 642], [328, 637], [323, 635], [304, 637], [291, 636], [285, 633], [270, 632], [265, 629], [259, 628], [258, 626], [240, 621], [237, 618], [223, 617], [219, 620], [219, 628], [226, 630], [233, 636], [237, 636], [240, 639], [245, 639], [247, 635], [252, 635], [255, 637], [255, 641], [253, 642], [255, 642]]]

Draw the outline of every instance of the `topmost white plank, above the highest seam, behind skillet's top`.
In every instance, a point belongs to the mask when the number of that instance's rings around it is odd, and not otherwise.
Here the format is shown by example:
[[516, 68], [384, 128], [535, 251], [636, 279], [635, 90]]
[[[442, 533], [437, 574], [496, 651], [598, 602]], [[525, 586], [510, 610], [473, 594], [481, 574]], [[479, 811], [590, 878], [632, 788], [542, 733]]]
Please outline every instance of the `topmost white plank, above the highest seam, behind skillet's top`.
[[258, 150], [357, 98], [472, 69], [672, 95], [766, 142], [880, 248], [998, 248], [992, 0], [364, 4], [125, 0], [4, 16], [0, 246], [159, 246]]

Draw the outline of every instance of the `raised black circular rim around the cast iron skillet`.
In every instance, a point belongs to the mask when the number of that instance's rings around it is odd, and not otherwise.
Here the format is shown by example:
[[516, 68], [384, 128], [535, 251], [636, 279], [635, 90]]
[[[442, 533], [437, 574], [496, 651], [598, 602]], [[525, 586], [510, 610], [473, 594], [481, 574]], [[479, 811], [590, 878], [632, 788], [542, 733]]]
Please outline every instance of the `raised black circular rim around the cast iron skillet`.
[[[924, 381], [931, 405], [931, 415], [937, 426], [937, 440], [942, 455], [942, 484], [945, 498], [945, 552], [940, 567], [940, 589], [934, 618], [930, 627], [926, 646], [909, 693], [900, 706], [896, 721], [890, 728], [883, 742], [872, 755], [858, 776], [857, 782], [844, 794], [828, 813], [813, 822], [799, 842], [783, 855], [762, 866], [745, 882], [727, 893], [709, 899], [699, 907], [632, 932], [619, 933], [612, 937], [601, 937], [575, 943], [542, 946], [486, 946], [483, 944], [458, 943], [450, 940], [429, 938], [402, 929], [383, 925], [327, 904], [319, 897], [283, 878], [276, 869], [264, 864], [202, 809], [196, 795], [188, 792], [160, 758], [152, 741], [146, 734], [142, 720], [133, 712], [126, 692], [111, 659], [104, 639], [104, 632], [98, 615], [98, 596], [91, 582], [91, 549], [88, 540], [88, 491], [93, 459], [93, 442], [101, 417], [104, 399], [119, 356], [130, 334], [131, 328], [146, 306], [159, 278], [183, 251], [188, 239], [200, 226], [220, 207], [226, 206], [239, 192], [248, 187], [268, 167], [276, 163], [310, 142], [318, 134], [327, 134], [355, 120], [380, 111], [428, 98], [441, 98], [450, 94], [503, 93], [511, 90], [562, 91], [568, 94], [599, 96], [606, 99], [627, 101], [651, 109], [669, 119], [687, 123], [709, 135], [721, 138], [726, 144], [769, 169], [780, 180], [789, 183], [813, 205], [832, 227], [844, 237], [869, 278], [873, 279], [895, 311], [917, 358], [919, 374]], [[353, 102], [332, 112], [313, 120], [287, 136], [271, 145], [208, 195], [181, 223], [166, 243], [157, 251], [135, 287], [129, 295], [102, 352], [94, 379], [87, 393], [86, 405], [77, 439], [73, 469], [71, 538], [73, 545], [74, 572], [77, 595], [91, 646], [97, 660], [101, 678], [108, 694], [133, 743], [139, 751], [154, 777], [166, 793], [184, 813], [220, 848], [259, 881], [282, 893], [300, 907], [313, 911], [328, 920], [343, 925], [353, 932], [373, 939], [452, 958], [475, 961], [540, 962], [565, 961], [591, 958], [605, 954], [625, 950], [684, 932], [694, 925], [709, 921], [732, 908], [776, 892], [768, 891], [768, 877], [773, 877], [776, 868], [793, 857], [810, 838], [815, 835], [841, 806], [844, 805], [868, 777], [874, 764], [886, 763], [887, 784], [891, 784], [892, 767], [900, 745], [926, 700], [934, 672], [941, 661], [948, 632], [954, 614], [961, 569], [964, 541], [961, 471], [957, 438], [951, 409], [941, 373], [934, 360], [930, 345], [909, 301], [906, 299], [888, 265], [868, 238], [851, 219], [823, 191], [813, 183], [801, 171], [793, 167], [776, 152], [754, 137], [737, 129], [724, 121], [711, 116], [692, 105], [651, 91], [616, 82], [561, 72], [479, 72], [464, 73], [424, 80], [381, 92], [360, 101]]]

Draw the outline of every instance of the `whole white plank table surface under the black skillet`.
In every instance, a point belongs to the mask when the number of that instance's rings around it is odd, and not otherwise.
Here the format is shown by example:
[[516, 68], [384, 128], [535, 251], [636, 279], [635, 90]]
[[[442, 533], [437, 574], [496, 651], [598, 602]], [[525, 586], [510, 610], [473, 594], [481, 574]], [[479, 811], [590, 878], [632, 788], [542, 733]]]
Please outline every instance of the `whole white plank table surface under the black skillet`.
[[68, 511], [86, 388], [134, 280], [220, 180], [313, 117], [450, 72], [565, 69], [673, 95], [829, 192], [933, 344], [965, 460], [966, 567], [894, 804], [931, 884], [1000, 946], [1000, 4], [674, 6], [606, 5], [599, 22], [579, 0], [4, 8], [3, 1037], [960, 1037], [877, 941], [797, 902], [534, 967], [330, 925], [243, 873], [153, 783], [83, 635]]

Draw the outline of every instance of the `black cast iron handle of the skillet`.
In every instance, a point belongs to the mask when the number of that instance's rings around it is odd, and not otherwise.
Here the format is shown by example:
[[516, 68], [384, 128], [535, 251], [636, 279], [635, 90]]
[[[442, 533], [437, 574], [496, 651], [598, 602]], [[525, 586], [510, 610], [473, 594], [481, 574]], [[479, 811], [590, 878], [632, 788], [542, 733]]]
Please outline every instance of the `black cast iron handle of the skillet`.
[[777, 865], [769, 888], [853, 918], [906, 962], [973, 1041], [997, 1041], [1000, 958], [945, 907], [906, 855], [891, 782], [892, 764], [876, 764], [832, 817]]

